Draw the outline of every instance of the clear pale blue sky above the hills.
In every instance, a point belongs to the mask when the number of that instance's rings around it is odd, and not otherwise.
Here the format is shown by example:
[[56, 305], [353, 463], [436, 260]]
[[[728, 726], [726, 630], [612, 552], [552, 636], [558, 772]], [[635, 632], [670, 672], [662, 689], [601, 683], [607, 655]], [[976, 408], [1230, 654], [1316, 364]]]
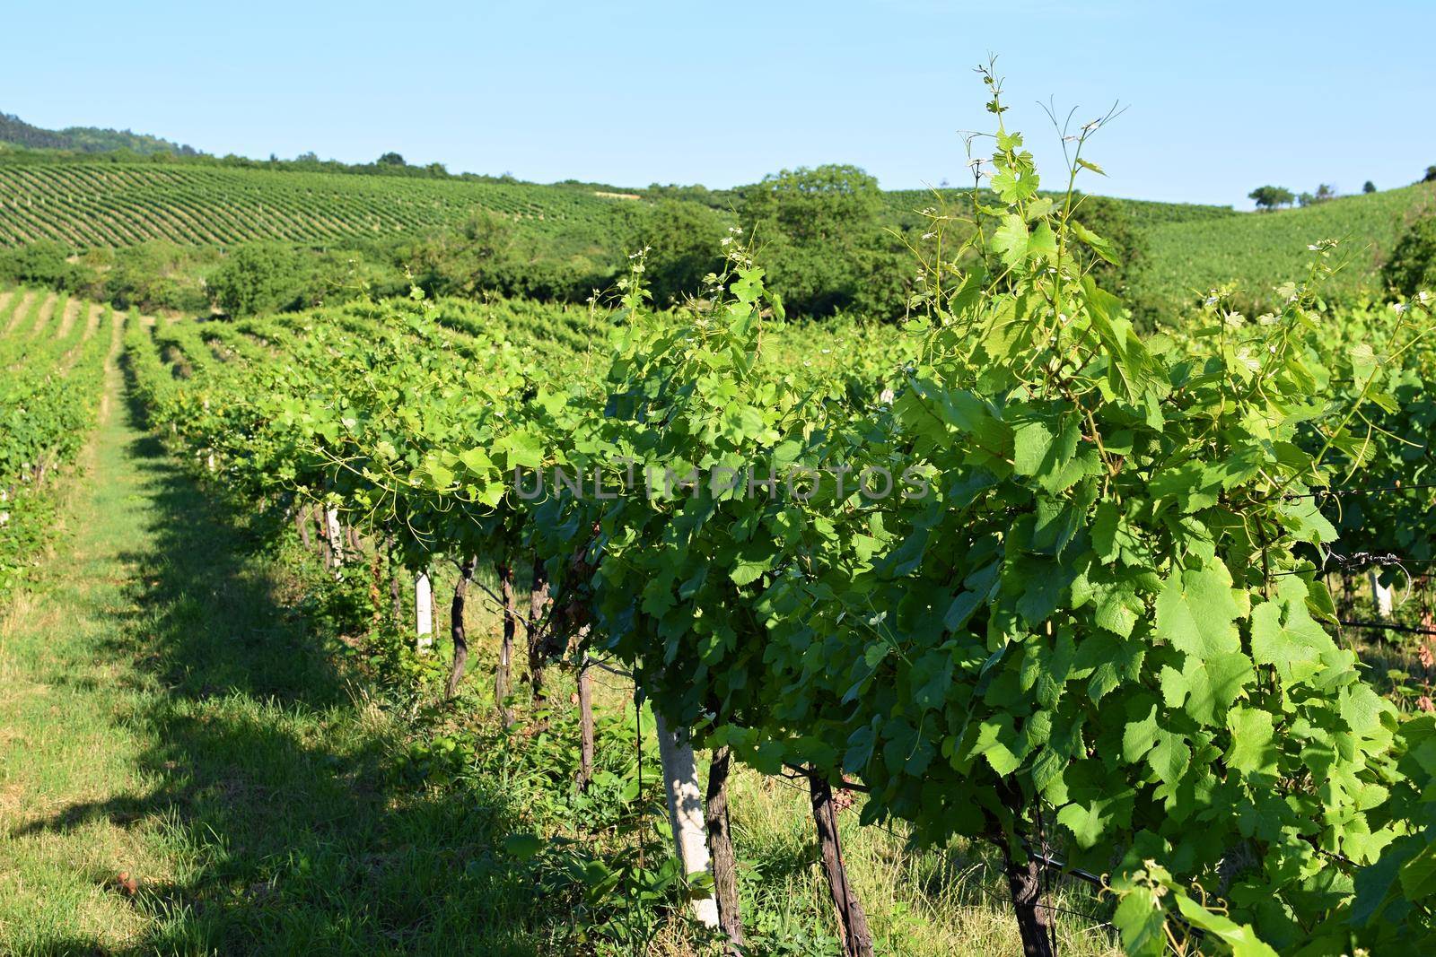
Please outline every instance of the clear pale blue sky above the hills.
[[1010, 126], [1087, 119], [1094, 192], [1235, 204], [1354, 192], [1436, 164], [1436, 1], [17, 3], [0, 110], [217, 154], [409, 162], [619, 185], [752, 182], [853, 162], [887, 188], [964, 181], [999, 56]]

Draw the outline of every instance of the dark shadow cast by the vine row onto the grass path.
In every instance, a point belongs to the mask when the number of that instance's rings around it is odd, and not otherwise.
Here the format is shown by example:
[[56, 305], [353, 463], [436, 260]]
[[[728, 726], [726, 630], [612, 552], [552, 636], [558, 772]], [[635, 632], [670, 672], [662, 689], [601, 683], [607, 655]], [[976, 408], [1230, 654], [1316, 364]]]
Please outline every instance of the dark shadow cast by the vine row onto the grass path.
[[[24, 832], [108, 819], [159, 835], [177, 869], [135, 875], [149, 931], [134, 953], [557, 953], [543, 941], [563, 937], [566, 908], [503, 851], [521, 809], [497, 785], [458, 798], [401, 782], [392, 725], [337, 638], [281, 600], [263, 519], [217, 505], [152, 438], [129, 453], [154, 521], [122, 557], [134, 604], [99, 653], [132, 676], [121, 720], [154, 742], [157, 783]], [[40, 953], [105, 951], [56, 938]]]

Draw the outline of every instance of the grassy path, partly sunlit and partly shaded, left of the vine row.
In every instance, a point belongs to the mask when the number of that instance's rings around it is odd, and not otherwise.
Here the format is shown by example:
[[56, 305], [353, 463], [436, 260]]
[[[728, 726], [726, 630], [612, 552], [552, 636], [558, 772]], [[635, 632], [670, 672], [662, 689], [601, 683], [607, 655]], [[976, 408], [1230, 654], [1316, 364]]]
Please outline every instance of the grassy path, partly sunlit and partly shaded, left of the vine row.
[[0, 954], [527, 953], [448, 917], [482, 907], [455, 855], [493, 808], [388, 783], [391, 725], [286, 562], [136, 428], [116, 369], [83, 471], [45, 584], [0, 610]]

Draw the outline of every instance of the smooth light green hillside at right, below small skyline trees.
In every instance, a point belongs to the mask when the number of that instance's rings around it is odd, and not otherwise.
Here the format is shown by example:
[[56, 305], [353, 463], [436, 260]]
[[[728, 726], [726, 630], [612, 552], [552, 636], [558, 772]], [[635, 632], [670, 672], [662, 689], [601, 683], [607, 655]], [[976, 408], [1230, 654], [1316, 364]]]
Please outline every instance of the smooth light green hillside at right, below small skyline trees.
[[1307, 245], [1327, 238], [1341, 241], [1347, 261], [1331, 293], [1379, 290], [1383, 257], [1407, 218], [1433, 199], [1436, 187], [1414, 185], [1307, 208], [1155, 225], [1146, 231], [1147, 267], [1133, 297], [1170, 310], [1236, 283], [1245, 301], [1265, 304], [1277, 286], [1307, 274]]

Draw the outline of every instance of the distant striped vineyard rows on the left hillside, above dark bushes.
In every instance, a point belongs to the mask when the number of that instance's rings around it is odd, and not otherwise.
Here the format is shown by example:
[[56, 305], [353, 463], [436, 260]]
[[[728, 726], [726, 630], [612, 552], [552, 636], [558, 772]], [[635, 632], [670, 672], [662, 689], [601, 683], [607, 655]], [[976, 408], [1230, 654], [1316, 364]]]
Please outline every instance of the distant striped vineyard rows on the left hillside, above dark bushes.
[[0, 245], [148, 240], [337, 242], [462, 224], [477, 211], [540, 232], [606, 224], [583, 189], [162, 164], [0, 164]]

